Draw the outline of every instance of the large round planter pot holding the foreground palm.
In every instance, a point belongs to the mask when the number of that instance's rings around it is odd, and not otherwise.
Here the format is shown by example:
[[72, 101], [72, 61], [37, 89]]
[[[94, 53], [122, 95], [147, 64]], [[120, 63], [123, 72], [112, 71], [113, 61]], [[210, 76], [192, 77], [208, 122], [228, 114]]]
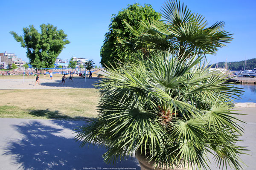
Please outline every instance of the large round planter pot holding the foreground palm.
[[182, 165], [180, 167], [174, 166], [172, 167], [163, 167], [160, 168], [160, 166], [155, 167], [155, 164], [153, 161], [148, 162], [145, 155], [140, 155], [140, 151], [136, 151], [135, 153], [136, 158], [138, 159], [140, 163], [140, 170], [192, 170], [192, 167], [183, 167]]

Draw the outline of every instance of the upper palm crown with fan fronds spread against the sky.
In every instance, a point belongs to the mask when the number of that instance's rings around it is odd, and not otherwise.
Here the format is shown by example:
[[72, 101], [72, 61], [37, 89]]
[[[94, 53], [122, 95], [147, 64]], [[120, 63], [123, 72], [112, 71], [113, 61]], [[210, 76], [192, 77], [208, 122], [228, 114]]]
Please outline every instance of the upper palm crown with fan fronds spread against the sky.
[[162, 9], [163, 21], [152, 23], [141, 22], [137, 27], [130, 27], [136, 35], [132, 41], [119, 40], [121, 44], [128, 44], [132, 50], [151, 49], [176, 50], [186, 53], [214, 54], [218, 48], [225, 46], [232, 38], [232, 34], [224, 31], [224, 22], [216, 22], [208, 26], [201, 14], [192, 13], [180, 1], [167, 1]]

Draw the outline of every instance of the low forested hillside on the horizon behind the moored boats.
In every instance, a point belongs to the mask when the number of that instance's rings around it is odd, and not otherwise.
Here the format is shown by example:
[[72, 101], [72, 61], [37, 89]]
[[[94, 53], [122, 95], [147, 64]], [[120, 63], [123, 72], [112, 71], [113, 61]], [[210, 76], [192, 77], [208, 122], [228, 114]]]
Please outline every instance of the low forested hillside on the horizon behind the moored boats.
[[[212, 68], [215, 68], [216, 64], [212, 66]], [[218, 62], [218, 68], [225, 68], [225, 62]], [[246, 70], [252, 70], [253, 68], [256, 68], [256, 58], [255, 59], [247, 59], [246, 60]], [[227, 62], [227, 69], [229, 70], [244, 70], [244, 61], [236, 61], [236, 62]]]

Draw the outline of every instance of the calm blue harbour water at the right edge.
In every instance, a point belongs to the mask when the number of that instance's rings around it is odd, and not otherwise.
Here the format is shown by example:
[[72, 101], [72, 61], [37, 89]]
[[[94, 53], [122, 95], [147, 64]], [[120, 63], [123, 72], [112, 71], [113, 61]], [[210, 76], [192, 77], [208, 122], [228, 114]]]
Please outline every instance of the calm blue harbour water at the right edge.
[[234, 102], [254, 102], [256, 103], [256, 85], [236, 85], [236, 87], [243, 88], [244, 94], [241, 99]]

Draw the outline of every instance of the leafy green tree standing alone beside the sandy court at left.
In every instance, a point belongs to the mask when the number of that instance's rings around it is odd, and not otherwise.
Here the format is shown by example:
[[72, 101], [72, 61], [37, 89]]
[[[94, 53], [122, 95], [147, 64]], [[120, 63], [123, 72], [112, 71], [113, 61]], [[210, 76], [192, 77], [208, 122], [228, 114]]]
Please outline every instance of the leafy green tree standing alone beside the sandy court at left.
[[18, 36], [14, 31], [10, 34], [20, 42], [21, 47], [26, 48], [29, 63], [33, 67], [53, 68], [56, 58], [65, 48], [64, 45], [70, 41], [62, 29], [57, 30], [51, 24], [42, 24], [40, 28], [41, 33], [33, 25], [29, 25], [29, 28], [23, 28], [23, 36]]

